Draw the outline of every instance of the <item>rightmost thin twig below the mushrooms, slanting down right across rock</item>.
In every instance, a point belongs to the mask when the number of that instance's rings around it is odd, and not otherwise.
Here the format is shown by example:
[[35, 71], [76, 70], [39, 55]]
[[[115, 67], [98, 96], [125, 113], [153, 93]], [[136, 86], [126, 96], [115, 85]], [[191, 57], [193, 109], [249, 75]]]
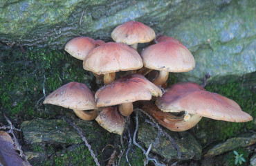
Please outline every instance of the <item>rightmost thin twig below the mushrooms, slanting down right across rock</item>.
[[179, 149], [179, 146], [176, 144], [175, 140], [167, 133], [165, 132], [160, 126], [159, 124], [154, 120], [154, 118], [152, 118], [152, 116], [149, 116], [148, 113], [146, 113], [143, 109], [138, 109], [140, 110], [141, 112], [143, 112], [147, 117], [149, 117], [150, 120], [152, 120], [152, 122], [150, 122], [149, 120], [145, 120], [145, 122], [149, 122], [150, 124], [153, 125], [153, 127], [156, 127], [158, 129], [158, 131], [161, 132], [161, 134], [163, 136], [166, 136], [170, 142], [172, 142], [172, 146], [174, 146], [174, 148], [176, 149], [177, 151], [177, 154], [178, 154], [178, 158], [181, 158], [181, 151]]

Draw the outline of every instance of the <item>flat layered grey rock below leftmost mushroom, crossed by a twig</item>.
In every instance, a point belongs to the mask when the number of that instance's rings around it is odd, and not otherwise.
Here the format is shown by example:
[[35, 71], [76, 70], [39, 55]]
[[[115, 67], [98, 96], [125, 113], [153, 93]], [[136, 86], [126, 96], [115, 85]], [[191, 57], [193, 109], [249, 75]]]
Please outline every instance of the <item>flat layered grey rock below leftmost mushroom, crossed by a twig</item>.
[[[109, 138], [96, 122], [75, 119], [75, 124], [84, 132], [84, 137], [95, 145], [103, 146]], [[81, 136], [64, 120], [35, 119], [21, 123], [24, 139], [28, 144], [79, 144]], [[100, 138], [100, 139], [99, 139]]]

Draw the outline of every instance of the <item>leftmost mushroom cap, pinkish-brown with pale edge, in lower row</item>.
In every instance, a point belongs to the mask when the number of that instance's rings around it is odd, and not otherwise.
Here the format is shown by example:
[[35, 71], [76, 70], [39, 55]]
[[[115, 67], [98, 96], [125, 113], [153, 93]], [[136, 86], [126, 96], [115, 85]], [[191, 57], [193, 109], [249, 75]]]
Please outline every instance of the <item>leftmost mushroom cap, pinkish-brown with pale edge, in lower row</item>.
[[97, 109], [93, 93], [79, 82], [69, 82], [46, 97], [44, 104], [54, 104], [68, 109]]

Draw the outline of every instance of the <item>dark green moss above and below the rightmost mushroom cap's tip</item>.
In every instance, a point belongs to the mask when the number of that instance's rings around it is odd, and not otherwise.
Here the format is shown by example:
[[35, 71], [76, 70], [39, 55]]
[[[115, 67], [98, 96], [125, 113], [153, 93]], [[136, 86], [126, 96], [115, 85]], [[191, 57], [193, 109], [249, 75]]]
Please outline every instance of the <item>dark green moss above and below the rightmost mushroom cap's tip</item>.
[[[249, 113], [253, 118], [256, 117], [255, 93], [248, 87], [243, 86], [246, 84], [246, 80], [230, 80], [226, 84], [210, 84], [206, 86], [208, 91], [219, 93], [237, 102], [241, 109], [246, 113]], [[237, 136], [246, 130], [255, 129], [253, 121], [250, 122], [224, 122], [219, 120], [211, 120], [209, 118], [203, 118], [199, 122], [197, 131], [203, 131], [206, 133], [208, 140], [226, 140]], [[204, 142], [204, 143], [207, 143]]]

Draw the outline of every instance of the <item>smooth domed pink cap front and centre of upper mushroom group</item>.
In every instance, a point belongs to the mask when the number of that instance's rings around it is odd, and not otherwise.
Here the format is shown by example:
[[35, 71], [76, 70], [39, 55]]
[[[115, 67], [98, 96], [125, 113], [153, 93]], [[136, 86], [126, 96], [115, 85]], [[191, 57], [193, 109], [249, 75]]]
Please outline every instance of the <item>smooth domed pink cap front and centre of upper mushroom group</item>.
[[91, 50], [84, 59], [84, 70], [105, 74], [137, 70], [143, 67], [138, 52], [125, 44], [108, 42]]

